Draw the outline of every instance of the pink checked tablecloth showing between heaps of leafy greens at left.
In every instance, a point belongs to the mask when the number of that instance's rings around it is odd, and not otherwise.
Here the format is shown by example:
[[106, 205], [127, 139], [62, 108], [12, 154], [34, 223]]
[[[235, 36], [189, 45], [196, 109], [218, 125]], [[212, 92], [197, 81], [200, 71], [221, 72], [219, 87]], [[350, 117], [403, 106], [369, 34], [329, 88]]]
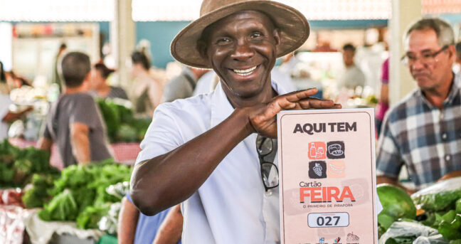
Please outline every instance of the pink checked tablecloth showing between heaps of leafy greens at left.
[[[26, 148], [26, 147], [36, 147], [37, 142], [35, 141], [26, 141], [25, 139], [19, 138], [10, 138], [9, 142], [16, 147]], [[129, 142], [129, 143], [116, 143], [110, 145], [112, 152], [115, 157], [115, 161], [118, 161], [122, 164], [134, 164], [136, 161], [137, 154], [141, 152], [138, 142]], [[51, 148], [51, 158], [50, 164], [57, 167], [58, 169], [63, 169], [63, 161], [60, 159], [58, 152], [58, 147], [53, 144]]]

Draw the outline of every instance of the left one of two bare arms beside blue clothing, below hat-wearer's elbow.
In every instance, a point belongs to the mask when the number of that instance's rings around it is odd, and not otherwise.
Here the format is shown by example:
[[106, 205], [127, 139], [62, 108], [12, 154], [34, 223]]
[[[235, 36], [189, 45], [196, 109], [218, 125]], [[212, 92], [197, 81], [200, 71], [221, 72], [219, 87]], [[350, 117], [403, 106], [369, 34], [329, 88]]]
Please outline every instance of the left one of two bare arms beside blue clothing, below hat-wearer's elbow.
[[120, 209], [117, 239], [120, 244], [132, 244], [136, 233], [139, 210], [125, 196], [122, 199], [122, 209]]

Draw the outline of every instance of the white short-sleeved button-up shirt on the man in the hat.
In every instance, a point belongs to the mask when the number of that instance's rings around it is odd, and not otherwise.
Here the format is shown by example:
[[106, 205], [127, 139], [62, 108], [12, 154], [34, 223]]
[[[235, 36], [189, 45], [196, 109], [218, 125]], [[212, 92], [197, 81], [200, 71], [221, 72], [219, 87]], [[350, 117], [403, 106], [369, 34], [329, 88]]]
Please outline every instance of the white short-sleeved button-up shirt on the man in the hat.
[[[279, 94], [287, 92], [274, 81], [272, 87]], [[176, 149], [223, 122], [233, 110], [221, 84], [211, 93], [159, 105], [137, 163]], [[279, 189], [265, 192], [255, 139], [251, 134], [240, 142], [181, 203], [182, 243], [280, 243]]]

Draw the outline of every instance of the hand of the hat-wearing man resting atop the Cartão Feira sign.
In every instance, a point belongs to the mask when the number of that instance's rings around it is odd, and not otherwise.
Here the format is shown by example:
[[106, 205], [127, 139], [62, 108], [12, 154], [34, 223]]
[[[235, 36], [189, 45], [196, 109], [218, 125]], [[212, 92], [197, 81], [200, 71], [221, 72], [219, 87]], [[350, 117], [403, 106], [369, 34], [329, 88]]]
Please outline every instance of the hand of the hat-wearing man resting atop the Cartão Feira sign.
[[265, 137], [277, 138], [277, 112], [282, 110], [310, 110], [341, 108], [332, 100], [310, 97], [317, 93], [317, 88], [290, 92], [274, 97], [267, 105], [243, 108], [250, 113], [249, 120], [253, 132]]

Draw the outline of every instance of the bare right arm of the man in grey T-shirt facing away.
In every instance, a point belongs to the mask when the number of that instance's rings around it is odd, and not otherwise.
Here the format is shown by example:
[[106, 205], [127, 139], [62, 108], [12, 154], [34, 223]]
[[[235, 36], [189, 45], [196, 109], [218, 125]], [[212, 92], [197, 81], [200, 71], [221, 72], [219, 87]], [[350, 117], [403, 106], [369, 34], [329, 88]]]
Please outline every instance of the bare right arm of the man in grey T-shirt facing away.
[[70, 144], [72, 153], [77, 159], [78, 164], [90, 164], [90, 139], [88, 139], [90, 129], [86, 124], [74, 122], [70, 124]]

